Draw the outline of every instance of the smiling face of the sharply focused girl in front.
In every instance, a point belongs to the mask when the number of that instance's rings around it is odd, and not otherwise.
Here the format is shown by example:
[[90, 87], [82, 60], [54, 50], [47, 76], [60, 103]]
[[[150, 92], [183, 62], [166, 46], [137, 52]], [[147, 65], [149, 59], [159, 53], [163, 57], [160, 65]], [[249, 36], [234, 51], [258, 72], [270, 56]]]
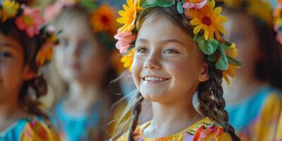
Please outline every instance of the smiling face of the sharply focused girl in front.
[[189, 99], [199, 82], [209, 78], [207, 64], [192, 37], [164, 16], [142, 25], [135, 49], [133, 80], [149, 101]]

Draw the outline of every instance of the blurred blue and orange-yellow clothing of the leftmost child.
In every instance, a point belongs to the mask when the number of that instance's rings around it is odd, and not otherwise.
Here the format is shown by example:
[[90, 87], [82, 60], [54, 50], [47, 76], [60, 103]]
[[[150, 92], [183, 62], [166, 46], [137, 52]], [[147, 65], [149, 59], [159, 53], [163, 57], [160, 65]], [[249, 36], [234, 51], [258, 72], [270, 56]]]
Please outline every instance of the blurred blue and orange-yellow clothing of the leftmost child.
[[0, 141], [59, 141], [51, 123], [42, 117], [20, 118], [0, 133]]

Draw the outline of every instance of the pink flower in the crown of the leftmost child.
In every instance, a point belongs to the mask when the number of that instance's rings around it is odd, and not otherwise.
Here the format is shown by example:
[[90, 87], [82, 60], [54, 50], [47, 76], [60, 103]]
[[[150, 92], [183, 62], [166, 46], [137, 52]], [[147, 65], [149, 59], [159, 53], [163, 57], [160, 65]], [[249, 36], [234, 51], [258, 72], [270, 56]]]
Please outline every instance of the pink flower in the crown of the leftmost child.
[[40, 27], [45, 23], [44, 18], [40, 16], [39, 9], [23, 7], [23, 16], [16, 19], [18, 29], [25, 30], [29, 37], [39, 34]]

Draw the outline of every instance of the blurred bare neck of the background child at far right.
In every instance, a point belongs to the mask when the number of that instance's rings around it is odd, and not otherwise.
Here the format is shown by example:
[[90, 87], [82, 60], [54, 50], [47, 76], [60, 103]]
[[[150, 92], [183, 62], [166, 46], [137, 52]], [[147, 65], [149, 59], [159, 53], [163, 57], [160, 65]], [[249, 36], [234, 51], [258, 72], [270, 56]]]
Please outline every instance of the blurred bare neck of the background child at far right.
[[265, 82], [257, 79], [240, 79], [235, 78], [231, 80], [231, 86], [224, 86], [224, 99], [227, 105], [238, 104], [247, 97], [252, 97], [259, 89], [266, 86]]

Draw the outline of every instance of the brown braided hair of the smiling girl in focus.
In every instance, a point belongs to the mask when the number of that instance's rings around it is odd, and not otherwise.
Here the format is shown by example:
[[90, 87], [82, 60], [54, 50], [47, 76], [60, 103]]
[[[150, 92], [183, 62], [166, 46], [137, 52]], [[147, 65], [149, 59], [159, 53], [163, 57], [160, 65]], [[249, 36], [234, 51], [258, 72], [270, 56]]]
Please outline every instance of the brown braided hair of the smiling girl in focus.
[[[186, 34], [193, 36], [193, 28], [190, 25], [190, 20], [186, 18], [183, 14], [179, 14], [176, 6], [171, 6], [168, 8], [160, 8], [154, 7], [149, 9], [147, 12], [150, 13], [152, 11], [159, 11], [159, 13], [164, 14], [166, 18], [171, 20], [172, 23], [176, 24], [180, 27]], [[142, 22], [149, 18], [149, 14], [147, 16], [141, 16], [137, 20], [137, 28], [142, 25]], [[138, 29], [137, 29], [138, 30]], [[228, 124], [228, 113], [224, 109], [225, 101], [223, 99], [223, 89], [221, 87], [221, 82], [223, 78], [223, 73], [219, 69], [215, 67], [215, 63], [207, 61], [208, 64], [208, 73], [209, 80], [205, 82], [200, 82], [200, 85], [197, 87], [198, 91], [198, 102], [199, 106], [197, 111], [200, 111], [202, 116], [206, 116], [212, 119], [217, 124], [223, 126], [226, 130], [226, 133], [229, 133], [233, 140], [240, 140], [240, 138], [235, 135], [235, 130], [231, 125]], [[138, 123], [138, 116], [141, 111], [141, 102], [143, 101], [143, 97], [140, 92], [137, 92], [133, 99], [131, 99], [128, 106], [125, 108], [124, 113], [121, 115], [121, 118], [118, 121], [118, 126], [116, 128], [116, 136], [120, 136], [125, 130], [129, 129], [128, 140], [133, 141], [133, 132]], [[192, 100], [192, 99], [191, 99]], [[133, 114], [130, 118], [126, 118], [126, 114], [133, 111]], [[132, 123], [128, 125], [125, 122], [132, 120]], [[113, 137], [113, 139], [115, 138]]]

